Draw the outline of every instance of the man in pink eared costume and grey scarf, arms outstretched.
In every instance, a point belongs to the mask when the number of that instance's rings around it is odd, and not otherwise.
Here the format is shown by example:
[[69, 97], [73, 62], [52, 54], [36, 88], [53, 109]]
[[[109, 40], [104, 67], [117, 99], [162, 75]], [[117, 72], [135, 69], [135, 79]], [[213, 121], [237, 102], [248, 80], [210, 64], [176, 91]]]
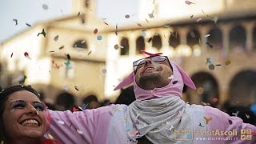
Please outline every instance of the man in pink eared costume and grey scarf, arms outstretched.
[[51, 111], [49, 134], [64, 143], [255, 143], [256, 127], [210, 106], [182, 100], [184, 84], [196, 89], [174, 62], [150, 54], [116, 88], [134, 82], [136, 101], [82, 112]]

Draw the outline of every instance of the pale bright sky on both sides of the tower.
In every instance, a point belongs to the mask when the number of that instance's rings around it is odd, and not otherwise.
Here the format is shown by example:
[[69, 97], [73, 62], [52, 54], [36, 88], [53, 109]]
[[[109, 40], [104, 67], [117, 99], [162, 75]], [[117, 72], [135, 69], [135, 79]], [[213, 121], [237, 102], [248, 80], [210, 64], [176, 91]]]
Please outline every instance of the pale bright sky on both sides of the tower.
[[[75, 1], [75, 0], [74, 0]], [[71, 14], [72, 0], [0, 0], [0, 42], [29, 29], [40, 21], [46, 21]], [[96, 13], [99, 18], [107, 18], [110, 23], [130, 23], [135, 15], [137, 0], [97, 0]], [[18, 24], [16, 25], [15, 20]]]

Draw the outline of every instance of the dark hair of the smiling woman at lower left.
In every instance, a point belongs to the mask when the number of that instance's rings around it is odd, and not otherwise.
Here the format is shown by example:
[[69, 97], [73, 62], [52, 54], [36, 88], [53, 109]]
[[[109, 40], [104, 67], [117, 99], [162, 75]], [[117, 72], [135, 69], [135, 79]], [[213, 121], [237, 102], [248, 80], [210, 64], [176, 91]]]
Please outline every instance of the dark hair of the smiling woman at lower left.
[[38, 98], [40, 98], [40, 94], [36, 90], [34, 90], [31, 86], [23, 86], [23, 85], [17, 85], [17, 86], [11, 86], [8, 87], [0, 92], [0, 141], [3, 141], [4, 143], [7, 143], [6, 139], [6, 133], [3, 126], [2, 121], [2, 114], [5, 110], [6, 101], [9, 98], [10, 94], [14, 94], [17, 91], [27, 90], [36, 95]]

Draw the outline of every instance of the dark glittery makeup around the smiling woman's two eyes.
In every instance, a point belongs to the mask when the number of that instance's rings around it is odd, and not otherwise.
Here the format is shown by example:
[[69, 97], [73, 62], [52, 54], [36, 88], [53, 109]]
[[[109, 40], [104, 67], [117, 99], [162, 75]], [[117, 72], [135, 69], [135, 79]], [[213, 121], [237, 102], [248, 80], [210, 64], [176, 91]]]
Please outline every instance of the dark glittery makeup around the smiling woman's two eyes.
[[[23, 100], [14, 101], [11, 103], [11, 107], [13, 109], [23, 109], [26, 106], [27, 106], [27, 103], [26, 101], [23, 101]], [[41, 102], [33, 102], [32, 106], [34, 106], [34, 108], [39, 111], [46, 110], [46, 106], [44, 106]]]

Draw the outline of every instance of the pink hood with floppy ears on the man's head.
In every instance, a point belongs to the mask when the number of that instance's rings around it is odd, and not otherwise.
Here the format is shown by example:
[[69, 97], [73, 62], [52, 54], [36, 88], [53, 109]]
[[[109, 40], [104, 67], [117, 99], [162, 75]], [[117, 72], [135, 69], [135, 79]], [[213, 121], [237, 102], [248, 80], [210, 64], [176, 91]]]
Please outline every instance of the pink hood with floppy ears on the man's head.
[[[155, 55], [147, 52], [143, 53]], [[182, 70], [182, 68], [175, 64], [173, 61], [171, 61], [170, 59], [169, 61], [170, 65], [173, 67], [173, 78], [171, 78], [171, 81], [167, 86], [161, 88], [154, 88], [154, 90], [144, 90], [137, 86], [135, 82], [134, 72], [132, 72], [121, 83], [119, 83], [118, 86], [114, 88], [114, 90], [121, 89], [122, 87], [128, 86], [134, 82], [134, 94], [137, 100], [145, 100], [154, 97], [165, 97], [170, 95], [177, 95], [178, 97], [182, 98], [182, 90], [184, 84], [195, 90], [196, 87], [194, 86], [194, 82], [191, 80], [188, 74], [186, 74], [184, 70]]]

